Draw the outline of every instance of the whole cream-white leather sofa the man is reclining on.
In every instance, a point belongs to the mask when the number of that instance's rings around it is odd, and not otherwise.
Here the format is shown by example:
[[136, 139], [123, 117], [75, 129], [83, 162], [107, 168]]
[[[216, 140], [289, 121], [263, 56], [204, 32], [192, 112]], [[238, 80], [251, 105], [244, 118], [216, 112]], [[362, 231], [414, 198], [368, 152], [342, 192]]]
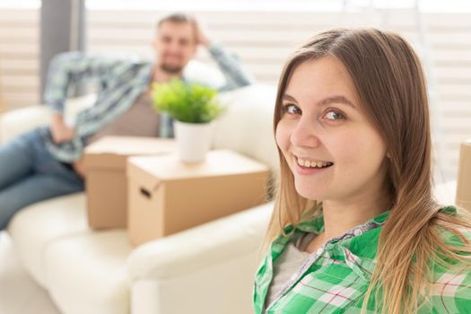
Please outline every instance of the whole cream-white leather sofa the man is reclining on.
[[[69, 117], [92, 102], [71, 100]], [[228, 110], [214, 130], [214, 148], [277, 163], [272, 135], [275, 87], [249, 86], [222, 95]], [[0, 117], [0, 139], [48, 123], [48, 109]], [[233, 214], [137, 249], [125, 230], [91, 231], [85, 195], [28, 206], [8, 232], [22, 265], [66, 314], [249, 313], [258, 249], [272, 204]]]

